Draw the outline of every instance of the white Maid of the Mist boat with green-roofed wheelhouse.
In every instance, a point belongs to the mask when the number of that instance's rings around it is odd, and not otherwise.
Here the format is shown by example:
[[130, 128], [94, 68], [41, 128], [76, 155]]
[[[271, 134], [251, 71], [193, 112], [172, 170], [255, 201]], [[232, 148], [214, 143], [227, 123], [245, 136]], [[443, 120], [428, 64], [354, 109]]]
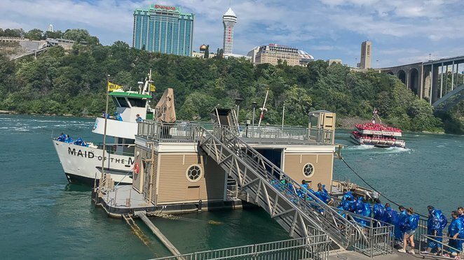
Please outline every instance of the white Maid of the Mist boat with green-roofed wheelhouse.
[[[114, 143], [107, 142], [104, 152], [104, 173], [111, 174], [115, 183], [132, 184], [134, 168], [135, 135], [137, 115], [142, 119], [153, 119], [149, 106], [151, 99], [151, 73], [146, 82], [139, 82], [139, 91], [115, 89], [109, 97], [116, 106], [120, 118], [107, 118], [107, 136], [114, 137]], [[97, 118], [93, 133], [104, 134], [104, 117]], [[67, 143], [60, 138], [53, 139], [63, 171], [69, 182], [83, 182], [94, 185], [95, 178], [102, 174], [102, 143]], [[108, 140], [108, 139], [107, 139]]]

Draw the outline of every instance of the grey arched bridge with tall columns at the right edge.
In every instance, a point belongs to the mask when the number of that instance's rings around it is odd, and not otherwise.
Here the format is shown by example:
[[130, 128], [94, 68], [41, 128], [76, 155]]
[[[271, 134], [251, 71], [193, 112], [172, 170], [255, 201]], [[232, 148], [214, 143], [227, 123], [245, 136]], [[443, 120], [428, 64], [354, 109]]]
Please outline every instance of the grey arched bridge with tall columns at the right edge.
[[[462, 99], [461, 96], [463, 96], [463, 88], [459, 87], [460, 85], [464, 85], [464, 75], [463, 73], [459, 73], [460, 66], [461, 71], [464, 71], [462, 64], [464, 64], [464, 56], [458, 56], [430, 60], [428, 62], [378, 68], [378, 70], [395, 75], [412, 92], [421, 99], [429, 99], [430, 104], [433, 104], [435, 107], [444, 101], [453, 99], [453, 102], [447, 103], [445, 106], [449, 109], [458, 103]], [[451, 79], [449, 79], [450, 74]]]

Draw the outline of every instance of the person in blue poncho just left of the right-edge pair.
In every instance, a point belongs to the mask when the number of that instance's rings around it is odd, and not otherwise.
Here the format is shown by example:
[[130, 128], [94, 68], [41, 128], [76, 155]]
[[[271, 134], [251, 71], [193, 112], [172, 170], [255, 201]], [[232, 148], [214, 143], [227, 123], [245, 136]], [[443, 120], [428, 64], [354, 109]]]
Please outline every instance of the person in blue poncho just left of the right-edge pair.
[[[437, 210], [433, 206], [428, 205], [428, 219], [427, 219], [427, 234], [432, 236], [432, 239], [428, 238], [427, 248], [422, 254], [430, 254], [433, 249], [441, 250], [442, 244], [436, 241], [442, 242], [443, 229], [448, 224], [448, 219], [442, 213], [442, 210]], [[435, 241], [436, 240], [436, 241]]]

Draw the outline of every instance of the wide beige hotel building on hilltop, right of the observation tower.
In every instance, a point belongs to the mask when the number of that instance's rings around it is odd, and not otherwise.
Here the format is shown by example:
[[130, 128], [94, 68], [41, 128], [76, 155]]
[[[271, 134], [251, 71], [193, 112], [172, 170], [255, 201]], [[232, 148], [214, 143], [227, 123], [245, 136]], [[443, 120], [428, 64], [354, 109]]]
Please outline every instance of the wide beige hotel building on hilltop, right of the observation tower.
[[309, 55], [308, 52], [274, 43], [254, 48], [248, 52], [248, 56], [251, 57], [253, 64], [268, 63], [277, 65], [280, 60], [287, 62], [289, 66], [306, 66], [308, 62], [314, 60], [314, 57]]

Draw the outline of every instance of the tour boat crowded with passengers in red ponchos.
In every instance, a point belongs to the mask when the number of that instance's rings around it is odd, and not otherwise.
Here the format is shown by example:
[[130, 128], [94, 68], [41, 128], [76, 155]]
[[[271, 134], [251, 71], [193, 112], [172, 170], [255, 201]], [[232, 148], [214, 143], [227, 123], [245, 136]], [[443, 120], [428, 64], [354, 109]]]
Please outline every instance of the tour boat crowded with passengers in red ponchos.
[[[376, 122], [376, 119], [379, 123]], [[402, 131], [395, 127], [382, 124], [377, 110], [374, 109], [369, 123], [355, 124], [355, 130], [350, 133], [350, 139], [357, 145], [374, 145], [376, 147], [405, 147], [404, 140], [398, 139]]]

